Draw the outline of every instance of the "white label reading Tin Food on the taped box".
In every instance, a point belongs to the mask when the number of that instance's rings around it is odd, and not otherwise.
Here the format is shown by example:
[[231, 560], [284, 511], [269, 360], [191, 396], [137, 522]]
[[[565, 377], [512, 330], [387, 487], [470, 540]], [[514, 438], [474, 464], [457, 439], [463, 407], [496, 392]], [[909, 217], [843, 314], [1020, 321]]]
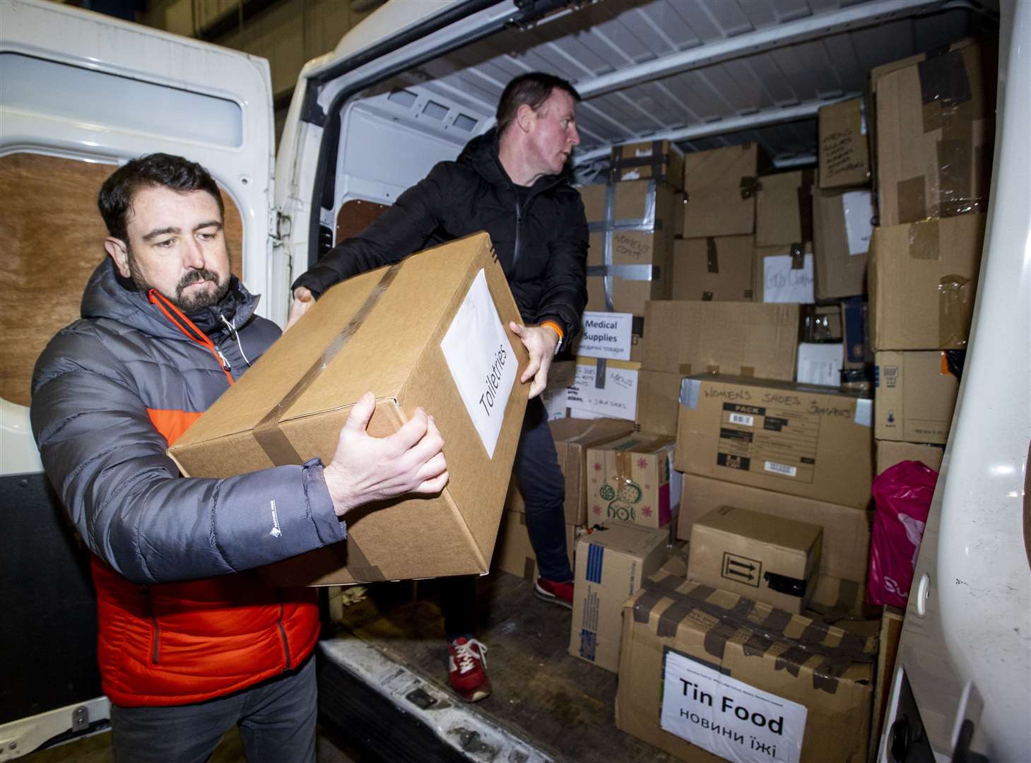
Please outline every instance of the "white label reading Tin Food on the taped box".
[[662, 728], [735, 763], [798, 763], [805, 705], [666, 650]]

